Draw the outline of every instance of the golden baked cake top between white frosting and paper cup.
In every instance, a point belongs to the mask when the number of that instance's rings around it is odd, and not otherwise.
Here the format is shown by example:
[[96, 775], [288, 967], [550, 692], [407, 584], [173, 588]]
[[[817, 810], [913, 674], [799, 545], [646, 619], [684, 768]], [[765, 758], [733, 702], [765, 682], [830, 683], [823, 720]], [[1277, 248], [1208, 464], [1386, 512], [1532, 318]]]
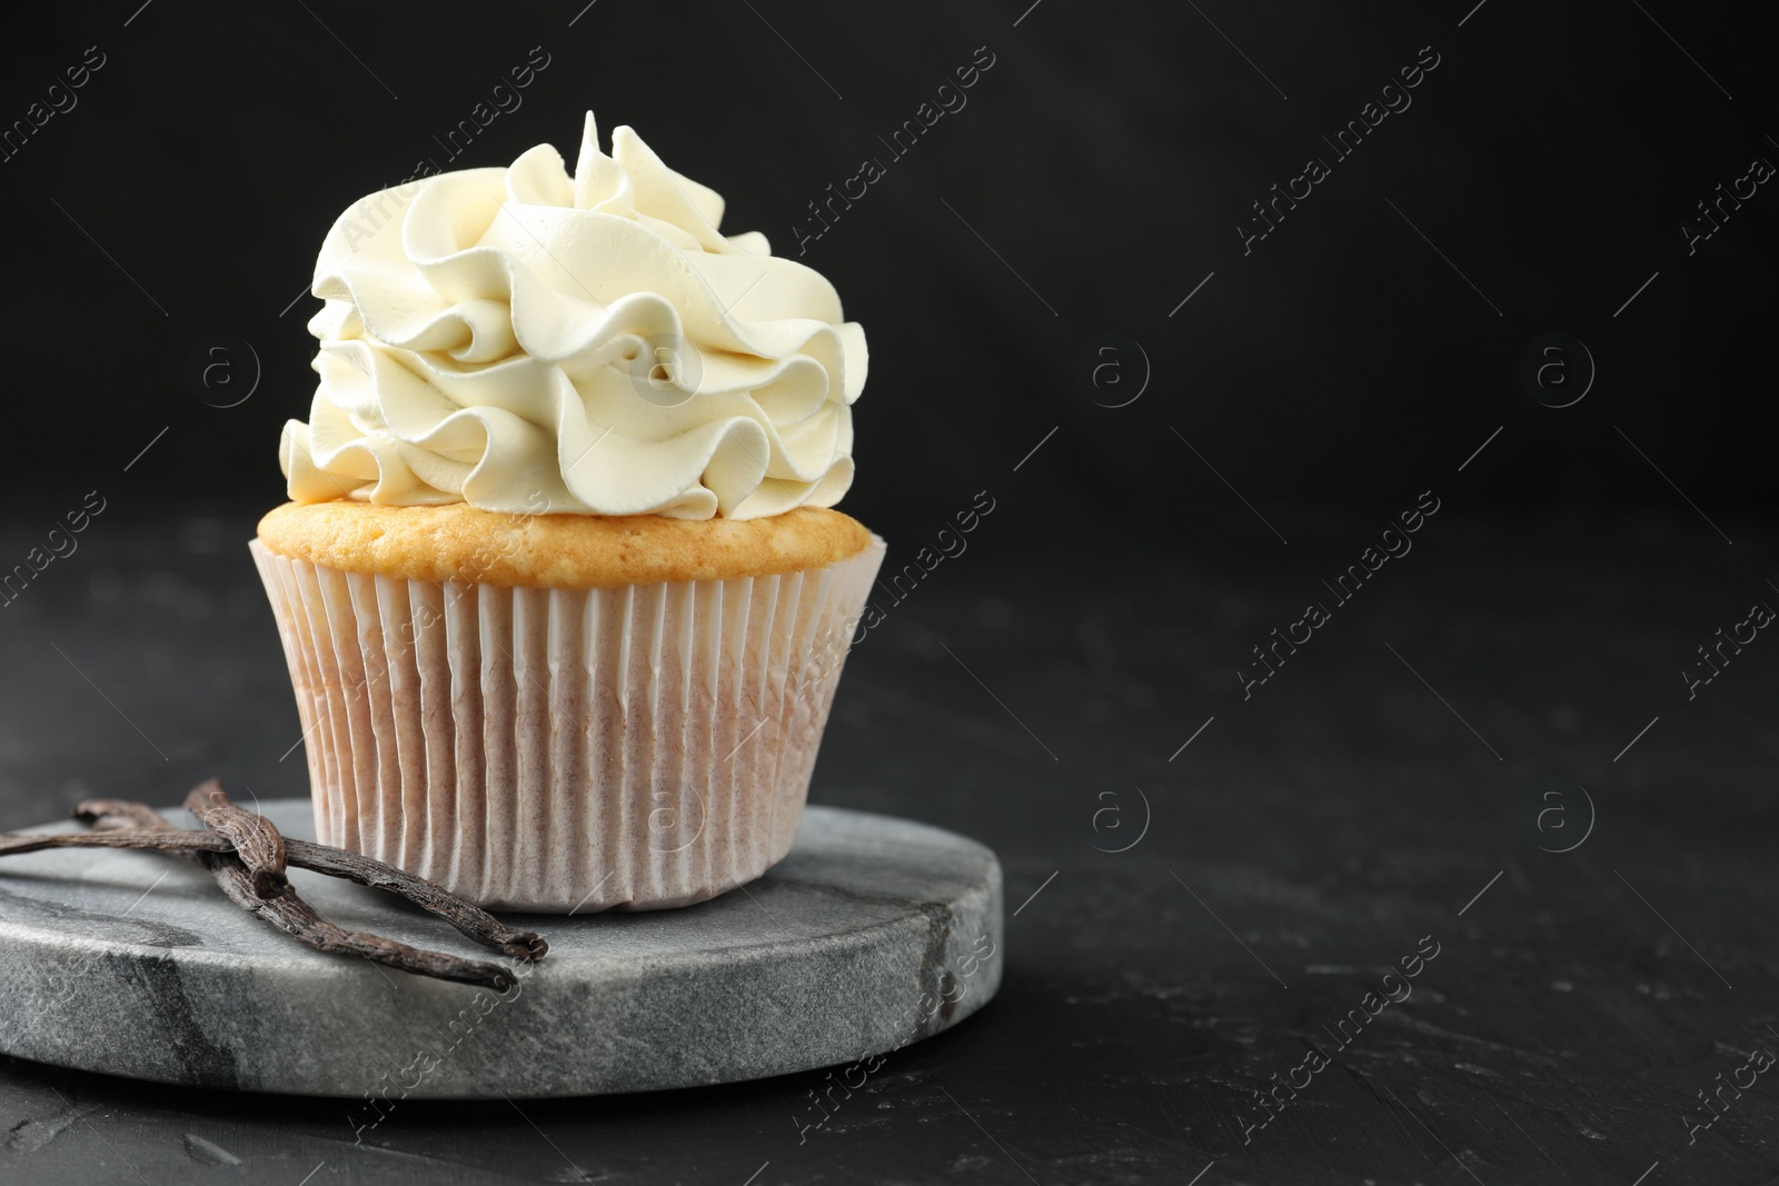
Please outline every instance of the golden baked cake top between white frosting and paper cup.
[[872, 542], [838, 510], [760, 519], [507, 514], [468, 503], [285, 503], [260, 519], [272, 551], [345, 573], [505, 587], [619, 589], [817, 569]]

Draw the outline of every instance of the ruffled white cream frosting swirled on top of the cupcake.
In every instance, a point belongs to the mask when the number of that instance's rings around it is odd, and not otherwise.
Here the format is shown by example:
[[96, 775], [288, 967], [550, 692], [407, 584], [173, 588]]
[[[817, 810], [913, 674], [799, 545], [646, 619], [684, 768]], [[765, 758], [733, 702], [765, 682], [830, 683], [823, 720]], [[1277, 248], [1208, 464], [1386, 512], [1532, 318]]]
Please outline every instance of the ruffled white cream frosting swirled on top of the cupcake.
[[865, 331], [630, 128], [372, 194], [327, 233], [294, 501], [754, 519], [852, 484]]

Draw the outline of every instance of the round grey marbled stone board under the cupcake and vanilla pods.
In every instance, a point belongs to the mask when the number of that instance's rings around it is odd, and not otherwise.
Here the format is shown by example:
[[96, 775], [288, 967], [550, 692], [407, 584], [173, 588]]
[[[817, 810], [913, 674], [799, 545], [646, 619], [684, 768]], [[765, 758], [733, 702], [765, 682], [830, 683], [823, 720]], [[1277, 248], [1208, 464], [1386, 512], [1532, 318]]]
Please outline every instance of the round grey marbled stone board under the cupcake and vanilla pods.
[[[286, 836], [315, 836], [308, 800], [260, 809]], [[290, 880], [342, 926], [500, 958], [393, 894], [302, 869]], [[550, 955], [496, 994], [313, 951], [164, 853], [4, 857], [0, 1051], [365, 1097], [354, 1124], [368, 1127], [404, 1097], [642, 1092], [850, 1063], [982, 1008], [1005, 958], [993, 852], [838, 807], [809, 807], [785, 861], [712, 902], [502, 918], [541, 932]]]

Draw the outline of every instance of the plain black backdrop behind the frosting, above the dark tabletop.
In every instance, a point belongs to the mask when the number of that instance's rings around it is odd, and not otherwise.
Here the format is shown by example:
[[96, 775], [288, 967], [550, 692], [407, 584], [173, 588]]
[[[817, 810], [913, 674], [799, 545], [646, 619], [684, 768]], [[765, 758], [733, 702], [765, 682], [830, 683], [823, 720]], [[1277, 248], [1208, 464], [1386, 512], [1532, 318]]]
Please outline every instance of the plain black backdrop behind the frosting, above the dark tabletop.
[[[761, 229], [781, 254], [806, 203], [884, 160], [804, 260], [866, 327], [847, 509], [886, 537], [966, 505], [1057, 425], [1023, 494], [1034, 530], [1133, 521], [1190, 542], [1252, 526], [1169, 425], [1284, 537], [1309, 509], [1388, 514], [1500, 425], [1478, 505], [1674, 505], [1649, 461], [1708, 512], [1770, 505], [1759, 347], [1779, 220], [1763, 187], [1690, 258], [1679, 228], [1754, 156], [1779, 160], [1763, 92], [1779, 14], [1491, 0], [1459, 28], [1471, 4], [1046, 0], [1019, 27], [1019, 4], [600, 0], [573, 27], [578, 4], [157, 0], [130, 27], [128, 0], [36, 11], [7, 39], [0, 117], [23, 117], [87, 46], [107, 64], [0, 164], [14, 228], [0, 484], [270, 507], [278, 429], [308, 414], [302, 322], [318, 306], [279, 313], [334, 217], [423, 156], [505, 165], [550, 142], [573, 160], [592, 108], [607, 135], [630, 123], [724, 194], [726, 231]], [[532, 46], [550, 66], [523, 105], [450, 162], [438, 140]], [[978, 46], [994, 66], [968, 105], [890, 160], [877, 137]], [[1320, 137], [1421, 46], [1439, 66], [1413, 107], [1336, 160]], [[1311, 155], [1332, 176], [1244, 256], [1249, 203]], [[1599, 368], [1560, 411], [1517, 377], [1553, 331]], [[233, 393], [187, 379], [213, 333], [258, 354], [238, 407], [206, 405]], [[1123, 409], [1076, 377], [1105, 333], [1153, 365]]]

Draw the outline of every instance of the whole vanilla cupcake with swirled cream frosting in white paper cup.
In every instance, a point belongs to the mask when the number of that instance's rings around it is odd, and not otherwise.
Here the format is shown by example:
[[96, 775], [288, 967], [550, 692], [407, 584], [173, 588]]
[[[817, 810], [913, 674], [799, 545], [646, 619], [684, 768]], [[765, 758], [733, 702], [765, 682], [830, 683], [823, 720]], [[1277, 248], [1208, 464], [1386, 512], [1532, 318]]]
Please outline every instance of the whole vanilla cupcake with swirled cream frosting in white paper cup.
[[249, 548], [315, 827], [495, 909], [660, 909], [797, 836], [884, 544], [865, 334], [630, 130], [327, 233], [320, 384]]

